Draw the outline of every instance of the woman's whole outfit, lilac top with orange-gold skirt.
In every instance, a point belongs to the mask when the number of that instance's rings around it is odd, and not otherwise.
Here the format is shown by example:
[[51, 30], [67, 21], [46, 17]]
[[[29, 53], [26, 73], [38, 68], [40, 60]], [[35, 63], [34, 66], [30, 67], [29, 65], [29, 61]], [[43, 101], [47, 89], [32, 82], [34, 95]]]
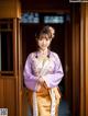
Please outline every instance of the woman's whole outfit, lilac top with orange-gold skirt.
[[[38, 83], [38, 76], [42, 76], [48, 89]], [[31, 93], [30, 104], [33, 116], [56, 116], [55, 111], [61, 97], [57, 85], [63, 76], [63, 68], [57, 54], [50, 51], [50, 57], [41, 57], [38, 51], [29, 55], [24, 67], [24, 83], [29, 89], [29, 94]], [[38, 88], [40, 92], [36, 92]]]

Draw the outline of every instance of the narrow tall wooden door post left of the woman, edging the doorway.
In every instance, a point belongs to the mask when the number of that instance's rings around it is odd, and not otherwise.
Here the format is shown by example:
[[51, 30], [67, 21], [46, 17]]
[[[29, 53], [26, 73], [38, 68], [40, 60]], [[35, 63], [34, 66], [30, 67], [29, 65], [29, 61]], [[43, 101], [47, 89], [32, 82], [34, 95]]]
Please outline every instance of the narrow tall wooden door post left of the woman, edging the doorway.
[[16, 19], [16, 38], [18, 38], [18, 113], [19, 116], [22, 114], [22, 89], [23, 89], [23, 69], [22, 69], [22, 37], [20, 28], [20, 19]]

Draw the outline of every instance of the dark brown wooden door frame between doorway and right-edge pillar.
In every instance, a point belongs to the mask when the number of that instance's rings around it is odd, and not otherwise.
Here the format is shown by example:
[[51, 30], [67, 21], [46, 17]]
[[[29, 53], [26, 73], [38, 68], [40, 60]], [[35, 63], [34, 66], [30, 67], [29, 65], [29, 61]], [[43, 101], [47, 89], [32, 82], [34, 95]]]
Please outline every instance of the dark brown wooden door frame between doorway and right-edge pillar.
[[[78, 5], [70, 9], [69, 38], [65, 38], [65, 89], [72, 115], [80, 114], [80, 15]], [[66, 27], [67, 30], [67, 27]], [[66, 34], [65, 34], [66, 35]], [[67, 97], [68, 95], [68, 97]], [[79, 112], [78, 112], [79, 111]]]

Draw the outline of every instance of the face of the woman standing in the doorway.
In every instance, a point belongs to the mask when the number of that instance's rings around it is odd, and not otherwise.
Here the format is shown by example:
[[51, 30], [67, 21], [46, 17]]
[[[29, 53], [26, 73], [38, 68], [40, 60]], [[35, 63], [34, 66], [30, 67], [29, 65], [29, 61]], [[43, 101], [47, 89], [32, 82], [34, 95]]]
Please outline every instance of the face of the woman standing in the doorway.
[[40, 38], [37, 39], [37, 45], [40, 49], [45, 50], [48, 48], [51, 44], [51, 38], [48, 38], [47, 34], [40, 35]]

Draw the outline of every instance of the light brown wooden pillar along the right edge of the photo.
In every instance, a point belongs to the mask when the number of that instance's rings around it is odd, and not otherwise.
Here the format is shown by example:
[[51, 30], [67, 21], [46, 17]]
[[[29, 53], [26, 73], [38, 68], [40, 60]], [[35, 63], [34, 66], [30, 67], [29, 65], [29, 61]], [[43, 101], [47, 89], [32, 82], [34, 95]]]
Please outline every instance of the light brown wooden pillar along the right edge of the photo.
[[80, 48], [80, 116], [88, 116], [88, 3], [81, 4]]

